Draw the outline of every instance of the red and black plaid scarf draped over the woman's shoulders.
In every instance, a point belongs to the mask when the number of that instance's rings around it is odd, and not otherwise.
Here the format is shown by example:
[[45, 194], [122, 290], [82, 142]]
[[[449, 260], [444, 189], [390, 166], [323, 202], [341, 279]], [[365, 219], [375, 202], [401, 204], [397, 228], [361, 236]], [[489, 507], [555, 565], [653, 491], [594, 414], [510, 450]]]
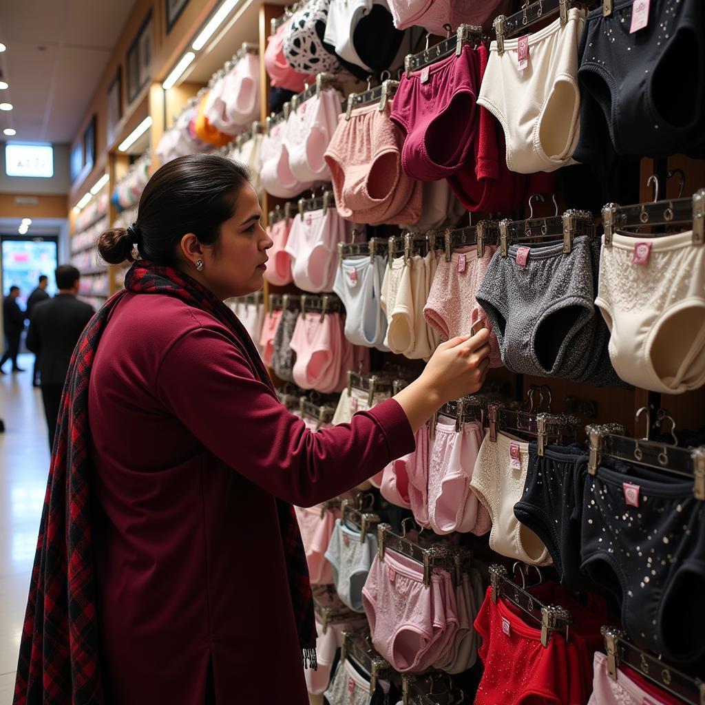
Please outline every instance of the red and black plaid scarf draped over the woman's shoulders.
[[[136, 293], [173, 296], [212, 314], [247, 351], [255, 375], [274, 393], [257, 349], [235, 314], [207, 288], [168, 267], [136, 262], [125, 277]], [[99, 614], [91, 539], [88, 385], [95, 353], [122, 291], [95, 314], [71, 358], [51, 453], [49, 482], [20, 644], [14, 705], [101, 705]], [[291, 599], [304, 666], [316, 668], [316, 629], [308, 569], [291, 505], [277, 500]], [[246, 606], [243, 606], [243, 609]]]

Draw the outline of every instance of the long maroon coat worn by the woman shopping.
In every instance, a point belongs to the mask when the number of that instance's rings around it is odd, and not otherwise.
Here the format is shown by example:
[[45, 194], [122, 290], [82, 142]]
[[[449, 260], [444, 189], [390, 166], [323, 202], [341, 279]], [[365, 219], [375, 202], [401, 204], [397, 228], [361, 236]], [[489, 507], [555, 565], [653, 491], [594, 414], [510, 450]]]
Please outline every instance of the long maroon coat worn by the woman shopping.
[[98, 618], [115, 705], [307, 705], [274, 497], [350, 489], [414, 439], [388, 400], [312, 434], [216, 319], [117, 305], [90, 379]]

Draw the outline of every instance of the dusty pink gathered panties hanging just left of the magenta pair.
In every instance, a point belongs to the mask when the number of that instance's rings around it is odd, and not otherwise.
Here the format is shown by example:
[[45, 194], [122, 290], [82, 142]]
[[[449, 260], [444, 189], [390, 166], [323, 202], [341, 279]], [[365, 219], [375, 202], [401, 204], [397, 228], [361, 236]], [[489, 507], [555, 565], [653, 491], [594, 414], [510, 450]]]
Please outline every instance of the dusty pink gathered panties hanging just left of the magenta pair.
[[422, 185], [402, 171], [401, 141], [377, 104], [338, 118], [325, 158], [343, 218], [370, 225], [418, 221]]

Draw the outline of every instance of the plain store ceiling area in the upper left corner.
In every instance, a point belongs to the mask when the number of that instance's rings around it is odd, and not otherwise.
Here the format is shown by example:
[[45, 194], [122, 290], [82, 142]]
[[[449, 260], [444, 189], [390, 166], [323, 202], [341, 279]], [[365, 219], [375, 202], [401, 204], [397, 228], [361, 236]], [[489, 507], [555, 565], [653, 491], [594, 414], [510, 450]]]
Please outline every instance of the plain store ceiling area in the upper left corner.
[[[118, 42], [129, 0], [0, 0], [0, 135], [72, 142]], [[4, 137], [0, 137], [4, 139]]]

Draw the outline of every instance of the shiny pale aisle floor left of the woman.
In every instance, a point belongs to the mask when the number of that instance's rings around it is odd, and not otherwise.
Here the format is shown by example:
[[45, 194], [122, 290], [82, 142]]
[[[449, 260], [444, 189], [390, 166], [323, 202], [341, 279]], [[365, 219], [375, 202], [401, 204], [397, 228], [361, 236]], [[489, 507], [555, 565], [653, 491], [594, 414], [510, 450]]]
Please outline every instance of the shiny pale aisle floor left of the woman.
[[0, 705], [11, 705], [27, 587], [49, 472], [42, 396], [32, 387], [31, 355], [22, 374], [0, 376]]

